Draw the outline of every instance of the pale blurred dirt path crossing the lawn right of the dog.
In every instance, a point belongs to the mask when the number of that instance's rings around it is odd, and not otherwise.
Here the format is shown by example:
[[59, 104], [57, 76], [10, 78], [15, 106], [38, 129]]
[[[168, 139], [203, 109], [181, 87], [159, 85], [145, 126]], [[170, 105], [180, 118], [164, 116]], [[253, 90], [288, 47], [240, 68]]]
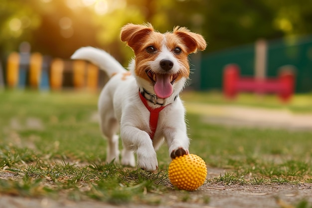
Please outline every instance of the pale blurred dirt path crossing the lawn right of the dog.
[[294, 114], [288, 110], [186, 103], [189, 113], [203, 115], [204, 122], [227, 126], [312, 131], [312, 114]]

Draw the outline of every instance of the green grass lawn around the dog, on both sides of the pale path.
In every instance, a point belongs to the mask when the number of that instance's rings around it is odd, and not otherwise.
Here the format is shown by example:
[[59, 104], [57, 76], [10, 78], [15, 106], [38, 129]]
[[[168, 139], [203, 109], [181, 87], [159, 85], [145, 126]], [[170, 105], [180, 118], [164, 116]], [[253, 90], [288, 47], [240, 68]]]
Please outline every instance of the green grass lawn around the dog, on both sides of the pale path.
[[[309, 97], [299, 95], [294, 100], [301, 104], [285, 105], [270, 96], [260, 104], [244, 95], [230, 103], [312, 113]], [[0, 177], [11, 176], [0, 179], [0, 194], [152, 205], [175, 195], [177, 201], [192, 202], [190, 193], [170, 186], [166, 145], [157, 153], [157, 174], [105, 164], [106, 142], [94, 116], [97, 99], [98, 94], [86, 92], [0, 92]], [[183, 99], [229, 104], [215, 93], [187, 92]], [[202, 116], [187, 114], [190, 152], [208, 169], [227, 170], [207, 183], [312, 183], [312, 132], [223, 127], [202, 122]], [[208, 202], [207, 196], [199, 201]]]

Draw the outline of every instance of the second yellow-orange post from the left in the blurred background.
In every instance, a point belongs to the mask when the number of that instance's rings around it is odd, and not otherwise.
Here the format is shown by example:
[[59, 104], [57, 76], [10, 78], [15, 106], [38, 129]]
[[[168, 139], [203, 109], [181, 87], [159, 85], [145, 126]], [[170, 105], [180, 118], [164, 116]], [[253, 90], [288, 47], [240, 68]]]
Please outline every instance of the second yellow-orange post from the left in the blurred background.
[[33, 53], [29, 64], [29, 84], [31, 87], [38, 88], [41, 81], [42, 55]]

